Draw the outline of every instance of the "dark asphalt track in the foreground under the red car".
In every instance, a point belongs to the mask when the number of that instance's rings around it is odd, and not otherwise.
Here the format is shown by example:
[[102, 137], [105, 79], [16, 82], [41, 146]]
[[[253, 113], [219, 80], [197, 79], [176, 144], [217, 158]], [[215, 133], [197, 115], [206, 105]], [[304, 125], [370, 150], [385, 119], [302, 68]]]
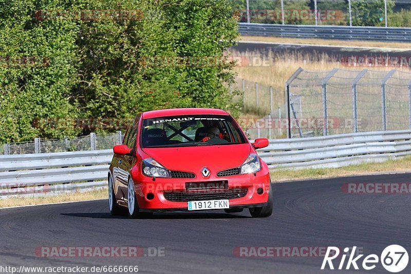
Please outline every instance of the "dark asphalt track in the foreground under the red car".
[[[0, 264], [11, 266], [138, 265], [142, 273], [388, 273], [321, 271], [322, 258], [238, 258], [240, 246], [362, 247], [411, 250], [410, 194], [345, 194], [346, 182], [409, 182], [411, 174], [274, 184], [275, 212], [158, 213], [148, 220], [113, 217], [106, 200], [0, 210]], [[275, 178], [272, 178], [273, 180]], [[164, 257], [39, 258], [39, 246], [164, 247]], [[363, 257], [364, 258], [364, 257]], [[362, 260], [361, 260], [362, 261]], [[339, 264], [339, 261], [335, 264]], [[411, 265], [402, 273], [410, 273]]]

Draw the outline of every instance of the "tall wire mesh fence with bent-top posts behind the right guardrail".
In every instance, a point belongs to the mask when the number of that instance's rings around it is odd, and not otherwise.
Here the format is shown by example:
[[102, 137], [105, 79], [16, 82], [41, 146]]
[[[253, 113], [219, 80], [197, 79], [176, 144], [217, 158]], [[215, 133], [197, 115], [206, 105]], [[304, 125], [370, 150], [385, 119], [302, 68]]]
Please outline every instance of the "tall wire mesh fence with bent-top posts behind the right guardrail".
[[286, 86], [289, 137], [411, 129], [410, 72], [299, 68]]

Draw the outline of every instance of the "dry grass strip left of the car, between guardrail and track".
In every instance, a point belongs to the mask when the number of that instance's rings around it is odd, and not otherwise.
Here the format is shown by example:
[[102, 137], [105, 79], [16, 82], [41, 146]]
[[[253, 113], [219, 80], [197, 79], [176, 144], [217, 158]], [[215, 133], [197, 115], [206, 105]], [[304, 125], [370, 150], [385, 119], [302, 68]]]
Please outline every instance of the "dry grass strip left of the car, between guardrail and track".
[[107, 198], [107, 195], [107, 189], [98, 189], [86, 192], [64, 193], [55, 196], [16, 196], [0, 199], [0, 208], [96, 200]]

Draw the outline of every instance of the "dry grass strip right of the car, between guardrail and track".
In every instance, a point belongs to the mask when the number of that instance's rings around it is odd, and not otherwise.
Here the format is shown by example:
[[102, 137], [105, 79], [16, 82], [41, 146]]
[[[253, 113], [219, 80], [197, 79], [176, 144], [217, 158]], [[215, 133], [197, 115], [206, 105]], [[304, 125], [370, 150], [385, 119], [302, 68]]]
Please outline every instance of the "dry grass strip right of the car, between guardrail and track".
[[301, 170], [276, 170], [271, 172], [273, 182], [320, 179], [332, 177], [346, 177], [369, 174], [411, 172], [411, 156], [384, 162], [361, 163], [342, 168], [320, 168], [320, 169], [301, 169]]

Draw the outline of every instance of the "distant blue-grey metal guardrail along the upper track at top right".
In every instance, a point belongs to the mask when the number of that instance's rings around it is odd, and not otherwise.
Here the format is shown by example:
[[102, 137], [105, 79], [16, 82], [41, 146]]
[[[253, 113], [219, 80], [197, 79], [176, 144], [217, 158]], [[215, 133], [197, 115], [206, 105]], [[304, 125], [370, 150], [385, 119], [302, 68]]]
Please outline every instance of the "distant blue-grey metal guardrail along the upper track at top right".
[[239, 23], [241, 35], [410, 42], [411, 28]]

